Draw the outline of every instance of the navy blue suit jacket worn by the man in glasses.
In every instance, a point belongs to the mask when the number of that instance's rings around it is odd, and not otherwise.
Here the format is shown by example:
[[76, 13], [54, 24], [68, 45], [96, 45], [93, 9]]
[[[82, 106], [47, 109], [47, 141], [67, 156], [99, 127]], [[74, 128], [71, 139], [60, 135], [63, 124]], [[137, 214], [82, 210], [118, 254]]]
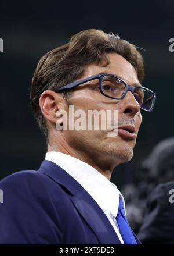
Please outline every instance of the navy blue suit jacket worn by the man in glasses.
[[0, 189], [0, 244], [120, 244], [95, 200], [53, 162], [6, 177]]

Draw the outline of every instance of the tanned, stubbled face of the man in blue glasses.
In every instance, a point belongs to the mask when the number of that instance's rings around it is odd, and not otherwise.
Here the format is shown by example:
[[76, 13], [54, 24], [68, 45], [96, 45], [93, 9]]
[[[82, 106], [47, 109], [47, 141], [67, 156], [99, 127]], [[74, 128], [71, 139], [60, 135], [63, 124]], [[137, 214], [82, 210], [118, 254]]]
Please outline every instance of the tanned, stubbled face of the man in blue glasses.
[[[98, 73], [108, 73], [120, 77], [132, 86], [140, 85], [131, 63], [116, 53], [108, 54], [108, 57], [110, 58], [110, 66], [91, 64], [80, 79]], [[124, 99], [116, 100], [102, 95], [98, 87], [96, 80], [76, 87], [69, 102], [74, 105], [74, 111], [82, 109], [87, 116], [88, 110], [118, 110], [118, 126], [131, 125], [135, 127], [135, 136], [126, 136], [125, 132], [119, 129], [117, 136], [108, 137], [108, 130], [101, 130], [99, 126], [99, 130], [64, 131], [64, 138], [70, 147], [84, 156], [84, 159], [88, 156], [92, 161], [95, 159], [101, 165], [107, 163], [108, 168], [114, 168], [119, 163], [129, 161], [132, 158], [142, 116], [140, 106], [130, 91]]]

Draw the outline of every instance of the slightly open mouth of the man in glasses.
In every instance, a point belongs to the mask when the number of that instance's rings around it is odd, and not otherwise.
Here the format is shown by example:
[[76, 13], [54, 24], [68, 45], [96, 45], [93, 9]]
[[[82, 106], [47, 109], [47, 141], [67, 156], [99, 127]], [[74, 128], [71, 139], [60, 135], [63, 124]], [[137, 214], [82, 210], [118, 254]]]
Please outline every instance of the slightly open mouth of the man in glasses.
[[118, 127], [118, 134], [124, 138], [124, 140], [135, 140], [136, 131], [132, 125], [123, 125]]

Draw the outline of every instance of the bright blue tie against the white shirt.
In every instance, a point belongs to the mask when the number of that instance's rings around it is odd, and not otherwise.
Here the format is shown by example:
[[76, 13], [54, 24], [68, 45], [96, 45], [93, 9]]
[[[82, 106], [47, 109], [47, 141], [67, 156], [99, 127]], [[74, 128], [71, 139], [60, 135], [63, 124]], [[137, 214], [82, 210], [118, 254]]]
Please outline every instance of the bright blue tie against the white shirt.
[[118, 214], [116, 217], [117, 224], [119, 227], [119, 233], [122, 236], [125, 244], [137, 244], [135, 237], [133, 236], [131, 227], [126, 219], [125, 211], [124, 211], [124, 204], [122, 199], [119, 198], [119, 207], [118, 207]]

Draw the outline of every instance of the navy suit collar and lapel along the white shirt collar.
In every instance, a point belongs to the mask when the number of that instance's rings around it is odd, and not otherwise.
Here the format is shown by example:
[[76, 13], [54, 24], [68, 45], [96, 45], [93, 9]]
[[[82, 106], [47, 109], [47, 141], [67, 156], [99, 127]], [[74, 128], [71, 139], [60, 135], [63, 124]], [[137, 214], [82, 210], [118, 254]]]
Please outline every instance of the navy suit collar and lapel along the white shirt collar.
[[91, 227], [101, 244], [121, 244], [113, 226], [96, 201], [65, 170], [53, 162], [44, 161], [38, 172], [45, 173], [71, 193], [71, 202]]

